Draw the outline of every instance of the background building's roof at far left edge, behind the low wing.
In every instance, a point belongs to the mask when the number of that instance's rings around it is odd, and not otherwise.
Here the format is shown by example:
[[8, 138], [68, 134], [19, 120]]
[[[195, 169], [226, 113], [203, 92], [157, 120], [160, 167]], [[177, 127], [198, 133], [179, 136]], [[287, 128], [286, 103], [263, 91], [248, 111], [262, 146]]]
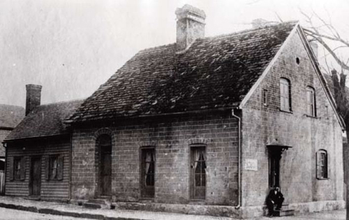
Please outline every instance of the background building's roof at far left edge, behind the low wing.
[[24, 108], [15, 105], [0, 104], [0, 128], [14, 128], [24, 118]]

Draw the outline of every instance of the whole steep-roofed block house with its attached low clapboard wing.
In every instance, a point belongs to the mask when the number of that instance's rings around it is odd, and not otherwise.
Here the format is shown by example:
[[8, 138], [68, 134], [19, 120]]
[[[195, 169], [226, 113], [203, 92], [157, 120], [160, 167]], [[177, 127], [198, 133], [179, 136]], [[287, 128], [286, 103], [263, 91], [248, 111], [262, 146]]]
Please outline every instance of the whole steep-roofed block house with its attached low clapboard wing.
[[72, 203], [247, 218], [280, 186], [296, 212], [343, 207], [343, 122], [302, 27], [207, 38], [202, 10], [176, 15], [176, 43], [138, 52], [82, 104], [27, 115], [5, 140], [6, 194], [32, 195], [38, 166], [34, 196]]

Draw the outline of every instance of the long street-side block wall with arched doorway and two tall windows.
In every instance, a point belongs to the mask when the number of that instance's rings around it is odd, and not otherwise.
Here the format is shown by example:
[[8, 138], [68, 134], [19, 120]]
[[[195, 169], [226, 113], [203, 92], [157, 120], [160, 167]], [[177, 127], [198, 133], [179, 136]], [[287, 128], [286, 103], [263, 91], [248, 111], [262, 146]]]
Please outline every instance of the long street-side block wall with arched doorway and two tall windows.
[[238, 195], [237, 120], [230, 111], [115, 122], [108, 128], [75, 129], [72, 198], [89, 199], [98, 189], [96, 138], [112, 135], [112, 198], [140, 201], [140, 147], [156, 152], [155, 203], [191, 203], [190, 145], [207, 146], [207, 191], [200, 204], [236, 205]]

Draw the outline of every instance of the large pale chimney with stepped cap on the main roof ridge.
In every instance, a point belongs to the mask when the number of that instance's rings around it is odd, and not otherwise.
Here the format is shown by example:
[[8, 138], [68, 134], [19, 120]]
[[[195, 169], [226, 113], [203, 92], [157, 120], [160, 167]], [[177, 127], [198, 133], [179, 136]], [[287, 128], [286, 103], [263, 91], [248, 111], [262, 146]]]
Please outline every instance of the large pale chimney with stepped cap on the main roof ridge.
[[177, 50], [186, 50], [205, 36], [205, 12], [188, 4], [177, 8]]

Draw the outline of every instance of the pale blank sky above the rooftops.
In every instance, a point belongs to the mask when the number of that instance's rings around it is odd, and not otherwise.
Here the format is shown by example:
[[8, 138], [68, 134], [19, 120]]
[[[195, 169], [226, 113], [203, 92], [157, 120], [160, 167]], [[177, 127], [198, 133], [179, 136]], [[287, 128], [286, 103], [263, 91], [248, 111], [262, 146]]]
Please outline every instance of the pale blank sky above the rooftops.
[[24, 106], [29, 83], [43, 85], [43, 104], [86, 98], [138, 50], [174, 43], [185, 3], [205, 10], [206, 36], [279, 21], [276, 13], [302, 22], [301, 8], [349, 39], [348, 0], [1, 0], [0, 103]]

